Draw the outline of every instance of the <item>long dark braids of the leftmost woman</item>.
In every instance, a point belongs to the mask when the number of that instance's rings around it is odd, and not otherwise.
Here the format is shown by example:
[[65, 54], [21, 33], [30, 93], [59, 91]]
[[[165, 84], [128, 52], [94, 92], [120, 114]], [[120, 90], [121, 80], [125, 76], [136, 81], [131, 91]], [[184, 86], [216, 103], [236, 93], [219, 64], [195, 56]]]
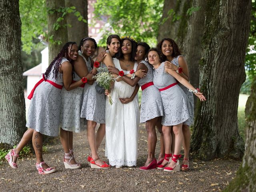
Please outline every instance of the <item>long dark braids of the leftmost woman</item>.
[[76, 44], [76, 42], [67, 42], [62, 47], [62, 49], [60, 50], [58, 55], [52, 60], [52, 62], [50, 63], [50, 65], [46, 69], [46, 72], [44, 73], [44, 78], [47, 79], [49, 77], [50, 72], [52, 70], [52, 67], [54, 67], [54, 69], [52, 71], [53, 72], [53, 78], [55, 78], [57, 80], [58, 73], [59, 73], [59, 68], [60, 68], [60, 62], [61, 62], [62, 58], [66, 58], [72, 64], [72, 68], [74, 68], [74, 60], [72, 60], [68, 56], [68, 47], [71, 45], [71, 48], [72, 48], [72, 46], [74, 44]]

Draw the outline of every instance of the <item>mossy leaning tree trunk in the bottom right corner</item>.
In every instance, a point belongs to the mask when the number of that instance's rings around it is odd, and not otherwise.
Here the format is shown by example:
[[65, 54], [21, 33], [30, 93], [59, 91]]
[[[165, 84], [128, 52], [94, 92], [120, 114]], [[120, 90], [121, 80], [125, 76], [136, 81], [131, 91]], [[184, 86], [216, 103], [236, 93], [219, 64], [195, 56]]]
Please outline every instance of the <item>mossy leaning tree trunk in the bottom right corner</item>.
[[225, 191], [255, 191], [256, 189], [256, 77], [246, 102], [246, 145], [242, 164], [234, 180]]

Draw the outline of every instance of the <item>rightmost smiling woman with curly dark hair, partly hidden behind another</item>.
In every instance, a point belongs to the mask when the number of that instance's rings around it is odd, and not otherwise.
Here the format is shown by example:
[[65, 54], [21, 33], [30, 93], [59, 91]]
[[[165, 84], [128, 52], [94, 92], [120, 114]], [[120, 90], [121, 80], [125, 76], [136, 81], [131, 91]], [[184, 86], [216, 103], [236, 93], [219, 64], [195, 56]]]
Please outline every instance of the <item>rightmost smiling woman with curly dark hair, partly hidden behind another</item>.
[[[177, 71], [178, 69], [182, 68], [182, 70], [180, 70], [179, 75], [189, 81], [188, 65], [184, 57], [181, 56], [180, 49], [176, 44], [176, 42], [174, 42], [174, 40], [170, 38], [164, 38], [158, 43], [157, 48], [161, 52], [161, 55], [160, 55], [161, 60], [165, 61], [165, 67], [174, 71]], [[188, 97], [188, 101], [189, 101], [188, 108], [190, 109], [189, 110], [190, 117], [182, 125], [182, 133], [184, 135], [184, 140], [183, 140], [184, 158], [182, 162], [182, 170], [187, 171], [189, 169], [188, 155], [189, 155], [190, 138], [191, 138], [190, 126], [194, 120], [194, 98], [193, 98], [192, 92], [188, 91], [188, 88], [186, 88], [180, 83], [178, 85], [182, 88], [182, 90]], [[172, 143], [174, 144], [174, 142]]]

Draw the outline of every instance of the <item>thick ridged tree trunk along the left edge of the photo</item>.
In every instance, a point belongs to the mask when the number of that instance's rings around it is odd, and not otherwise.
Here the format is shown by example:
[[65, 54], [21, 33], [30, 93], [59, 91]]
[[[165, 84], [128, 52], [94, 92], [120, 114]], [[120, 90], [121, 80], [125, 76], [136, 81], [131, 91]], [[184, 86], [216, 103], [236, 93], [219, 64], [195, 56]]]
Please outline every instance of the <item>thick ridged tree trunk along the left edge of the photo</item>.
[[18, 0], [0, 1], [0, 21], [0, 148], [9, 148], [26, 131]]

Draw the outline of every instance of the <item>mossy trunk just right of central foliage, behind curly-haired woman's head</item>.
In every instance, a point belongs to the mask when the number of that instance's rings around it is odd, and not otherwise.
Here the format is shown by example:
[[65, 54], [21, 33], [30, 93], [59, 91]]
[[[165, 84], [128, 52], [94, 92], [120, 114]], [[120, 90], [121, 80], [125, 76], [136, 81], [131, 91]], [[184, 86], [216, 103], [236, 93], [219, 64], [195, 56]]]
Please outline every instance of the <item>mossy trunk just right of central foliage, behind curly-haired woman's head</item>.
[[[158, 41], [162, 38], [172, 38], [177, 42], [180, 49], [183, 50], [184, 39], [188, 31], [189, 16], [186, 13], [188, 8], [191, 7], [191, 4], [192, 0], [164, 0], [162, 24], [159, 26]], [[170, 10], [173, 10], [174, 14], [170, 15], [168, 13]], [[176, 16], [180, 18], [177, 19]]]

